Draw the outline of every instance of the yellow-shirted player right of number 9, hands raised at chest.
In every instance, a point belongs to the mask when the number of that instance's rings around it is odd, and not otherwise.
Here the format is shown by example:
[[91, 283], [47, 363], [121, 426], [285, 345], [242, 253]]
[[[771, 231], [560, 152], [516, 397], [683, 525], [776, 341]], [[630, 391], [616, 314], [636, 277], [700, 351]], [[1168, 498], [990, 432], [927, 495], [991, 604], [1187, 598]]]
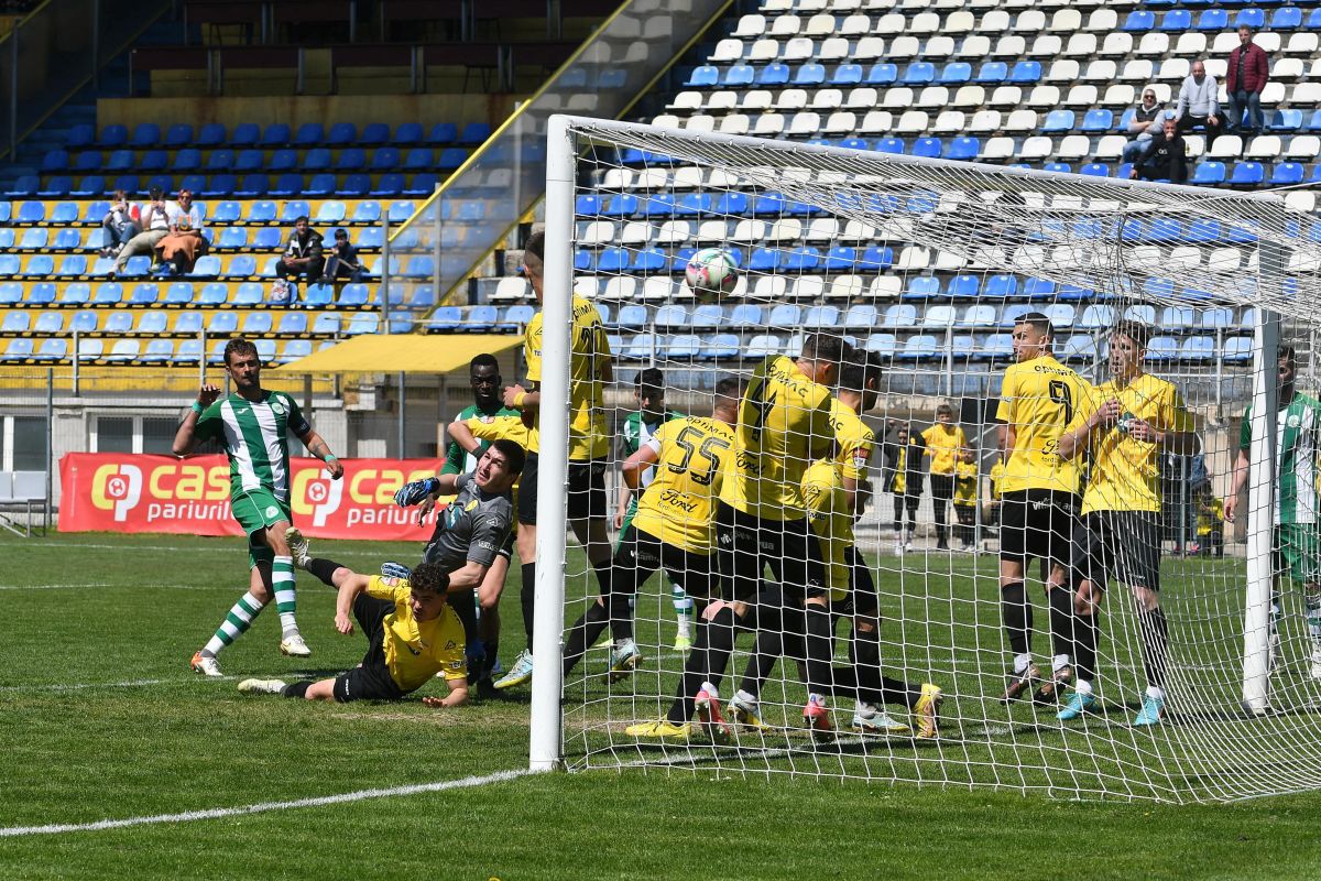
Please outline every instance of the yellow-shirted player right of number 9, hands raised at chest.
[[1143, 372], [1151, 329], [1123, 321], [1110, 335], [1110, 382], [1079, 403], [1059, 437], [1059, 456], [1091, 460], [1082, 514], [1074, 531], [1070, 567], [1077, 582], [1075, 667], [1078, 680], [1059, 719], [1077, 719], [1096, 696], [1096, 635], [1100, 601], [1110, 573], [1127, 584], [1143, 639], [1147, 691], [1133, 725], [1160, 724], [1165, 709], [1169, 643], [1160, 608], [1160, 472], [1162, 453], [1192, 456], [1201, 449], [1193, 416], [1178, 390]]

